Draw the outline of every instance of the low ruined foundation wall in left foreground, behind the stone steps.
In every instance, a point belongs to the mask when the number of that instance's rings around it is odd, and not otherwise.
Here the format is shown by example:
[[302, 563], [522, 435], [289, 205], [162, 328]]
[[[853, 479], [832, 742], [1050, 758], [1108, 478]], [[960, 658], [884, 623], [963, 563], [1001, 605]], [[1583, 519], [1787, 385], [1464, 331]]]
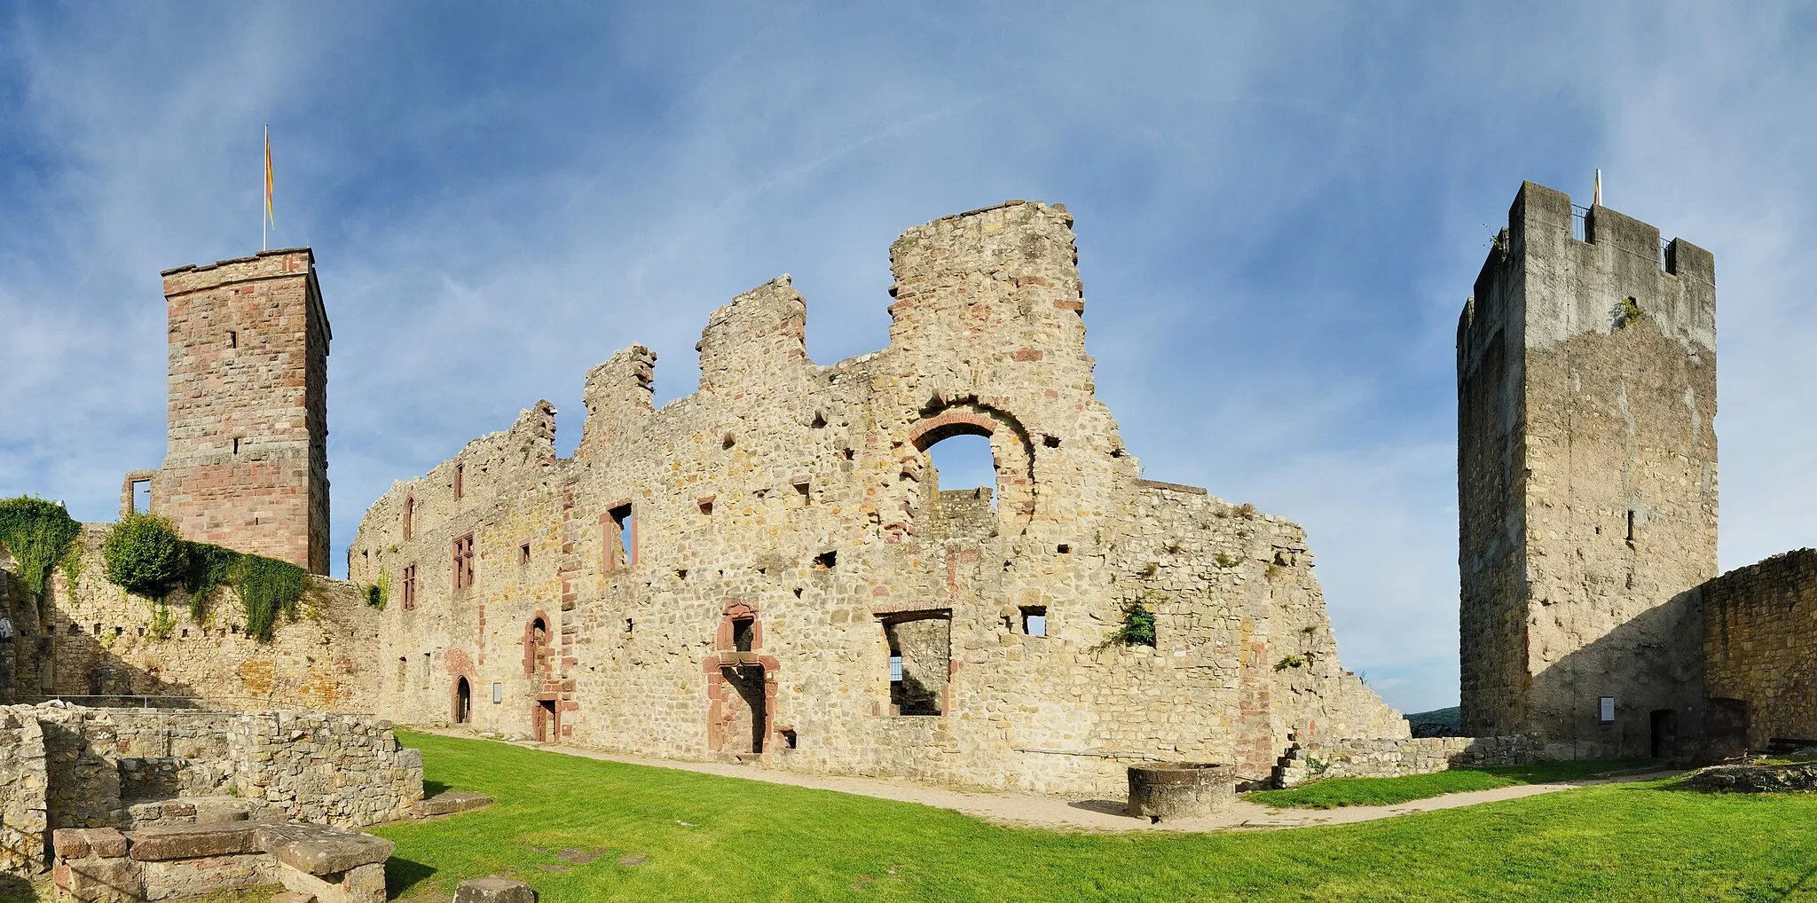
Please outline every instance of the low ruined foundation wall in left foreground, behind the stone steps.
[[7, 872], [42, 870], [55, 829], [363, 827], [409, 818], [422, 792], [422, 754], [374, 716], [0, 707]]

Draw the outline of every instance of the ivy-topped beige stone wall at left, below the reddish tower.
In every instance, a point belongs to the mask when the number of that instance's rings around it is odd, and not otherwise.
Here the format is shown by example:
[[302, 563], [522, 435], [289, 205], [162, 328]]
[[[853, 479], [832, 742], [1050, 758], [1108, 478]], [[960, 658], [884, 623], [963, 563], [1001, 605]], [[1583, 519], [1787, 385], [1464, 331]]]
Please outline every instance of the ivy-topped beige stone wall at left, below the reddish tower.
[[[142, 705], [138, 696], [164, 696], [151, 705], [204, 705], [263, 710], [314, 709], [374, 712], [378, 674], [371, 656], [380, 612], [362, 587], [309, 578], [298, 618], [278, 618], [271, 643], [245, 634], [233, 587], [220, 587], [204, 620], [189, 616], [189, 596], [167, 596], [174, 616], [160, 638], [154, 603], [107, 581], [100, 543], [107, 525], [84, 525], [84, 567], [74, 587], [53, 572], [44, 610], [15, 605], [13, 685], [20, 701], [65, 696], [100, 705]], [[29, 594], [0, 574], [0, 594]], [[0, 643], [4, 649], [5, 643]]]

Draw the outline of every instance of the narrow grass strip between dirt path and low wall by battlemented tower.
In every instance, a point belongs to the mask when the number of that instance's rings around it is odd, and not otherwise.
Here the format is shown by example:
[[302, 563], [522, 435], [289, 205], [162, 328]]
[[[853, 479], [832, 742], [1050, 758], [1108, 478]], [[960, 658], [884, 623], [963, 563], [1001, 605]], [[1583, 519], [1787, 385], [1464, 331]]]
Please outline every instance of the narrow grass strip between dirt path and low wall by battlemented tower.
[[1633, 761], [1541, 761], [1508, 769], [1452, 769], [1406, 778], [1332, 778], [1290, 790], [1259, 790], [1245, 796], [1252, 803], [1277, 809], [1337, 809], [1395, 805], [1465, 790], [1494, 790], [1519, 783], [1554, 783], [1594, 778], [1615, 770], [1650, 765]]

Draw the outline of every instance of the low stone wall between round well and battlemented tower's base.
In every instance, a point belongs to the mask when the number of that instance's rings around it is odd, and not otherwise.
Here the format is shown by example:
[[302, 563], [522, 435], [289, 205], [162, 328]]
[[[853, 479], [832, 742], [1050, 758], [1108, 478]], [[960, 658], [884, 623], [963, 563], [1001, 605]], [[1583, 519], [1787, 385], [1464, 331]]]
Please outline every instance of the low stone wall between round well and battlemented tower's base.
[[1534, 761], [1524, 736], [1506, 738], [1388, 738], [1294, 743], [1276, 767], [1279, 787], [1325, 778], [1401, 778], [1452, 767], [1523, 765]]

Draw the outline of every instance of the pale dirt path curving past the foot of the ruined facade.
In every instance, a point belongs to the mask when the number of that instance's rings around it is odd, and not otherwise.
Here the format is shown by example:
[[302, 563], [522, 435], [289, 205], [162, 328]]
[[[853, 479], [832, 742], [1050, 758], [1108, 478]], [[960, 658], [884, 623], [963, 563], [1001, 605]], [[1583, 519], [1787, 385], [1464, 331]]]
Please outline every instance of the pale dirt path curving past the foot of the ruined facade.
[[[427, 732], [452, 736], [452, 738], [474, 738], [474, 734], [463, 730], [427, 730]], [[1439, 809], [1457, 809], [1477, 803], [1494, 803], [1497, 799], [1519, 799], [1523, 796], [1550, 794], [1557, 790], [1570, 790], [1574, 787], [1652, 779], [1659, 776], [1659, 774], [1633, 774], [1633, 776], [1604, 778], [1592, 781], [1528, 783], [1515, 787], [1497, 787], [1494, 790], [1445, 794], [1428, 799], [1414, 799], [1408, 803], [1386, 805], [1386, 807], [1268, 809], [1245, 799], [1237, 799], [1236, 807], [1230, 812], [1221, 812], [1212, 818], [1179, 819], [1179, 821], [1167, 821], [1161, 825], [1154, 825], [1143, 818], [1125, 816], [1123, 799], [1063, 799], [1056, 796], [1043, 796], [1023, 790], [972, 792], [972, 790], [954, 790], [948, 787], [932, 787], [925, 783], [892, 779], [892, 778], [843, 778], [830, 774], [783, 772], [772, 769], [760, 769], [756, 765], [652, 759], [645, 756], [596, 752], [591, 749], [563, 747], [556, 743], [532, 743], [532, 741], [509, 741], [509, 739], [494, 739], [494, 743], [512, 743], [516, 747], [540, 749], [545, 752], [560, 752], [565, 756], [581, 756], [587, 759], [621, 761], [629, 765], [650, 765], [656, 769], [678, 769], [700, 774], [718, 774], [721, 778], [743, 778], [749, 781], [785, 783], [790, 787], [810, 787], [816, 790], [838, 790], [845, 794], [876, 796], [879, 799], [896, 799], [901, 803], [921, 803], [939, 809], [952, 809], [958, 812], [965, 812], [970, 816], [978, 816], [1005, 825], [1025, 825], [1039, 829], [1074, 829], [1074, 830], [1203, 832], [1203, 830], [1299, 829], [1308, 825], [1348, 825], [1354, 821], [1375, 821], [1379, 818], [1408, 816], [1414, 812], [1432, 812]]]

